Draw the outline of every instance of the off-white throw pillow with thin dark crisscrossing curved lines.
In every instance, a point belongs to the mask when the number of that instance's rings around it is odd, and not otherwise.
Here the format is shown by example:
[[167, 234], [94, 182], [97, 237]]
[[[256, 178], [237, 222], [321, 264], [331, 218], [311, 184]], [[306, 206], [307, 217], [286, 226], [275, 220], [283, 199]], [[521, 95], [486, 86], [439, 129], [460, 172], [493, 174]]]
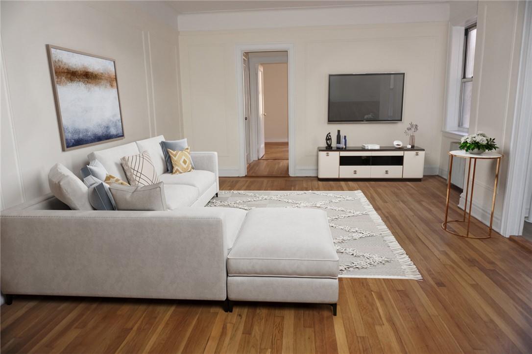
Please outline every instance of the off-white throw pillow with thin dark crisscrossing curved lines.
[[124, 156], [120, 159], [120, 163], [131, 186], [143, 187], [159, 183], [159, 177], [157, 177], [152, 157], [149, 156], [148, 151], [143, 151], [142, 154]]

